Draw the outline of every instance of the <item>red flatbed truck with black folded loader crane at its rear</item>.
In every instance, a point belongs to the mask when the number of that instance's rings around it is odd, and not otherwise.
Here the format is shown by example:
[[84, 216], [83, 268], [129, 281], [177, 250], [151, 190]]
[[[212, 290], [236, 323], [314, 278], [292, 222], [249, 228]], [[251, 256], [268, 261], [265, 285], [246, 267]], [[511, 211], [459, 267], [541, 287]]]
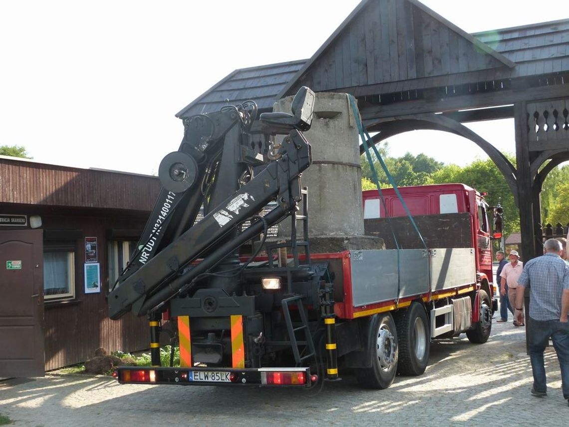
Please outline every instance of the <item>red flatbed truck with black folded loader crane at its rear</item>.
[[[465, 332], [486, 342], [488, 206], [472, 188], [401, 188], [422, 239], [393, 190], [385, 206], [364, 192], [365, 232], [386, 248], [311, 253], [300, 175], [312, 164], [303, 132], [314, 96], [302, 88], [292, 114], [261, 114], [257, 133], [252, 101], [185, 119], [138, 249], [108, 295], [110, 318], [149, 318], [152, 366], [119, 367], [120, 383], [311, 388], [351, 368], [362, 385], [386, 388], [398, 372], [424, 372], [432, 339]], [[287, 134], [278, 146], [277, 134]], [[265, 242], [287, 218], [290, 239]], [[160, 366], [166, 313], [180, 366]]]

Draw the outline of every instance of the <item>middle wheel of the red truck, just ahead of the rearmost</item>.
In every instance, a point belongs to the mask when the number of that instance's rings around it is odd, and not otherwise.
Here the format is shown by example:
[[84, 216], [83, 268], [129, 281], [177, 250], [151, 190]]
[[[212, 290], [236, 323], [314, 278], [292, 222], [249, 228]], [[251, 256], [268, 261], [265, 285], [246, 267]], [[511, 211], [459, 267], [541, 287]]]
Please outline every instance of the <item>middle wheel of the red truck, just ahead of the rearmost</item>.
[[427, 313], [417, 302], [395, 316], [399, 337], [397, 372], [402, 375], [421, 375], [427, 368], [431, 350], [428, 324]]

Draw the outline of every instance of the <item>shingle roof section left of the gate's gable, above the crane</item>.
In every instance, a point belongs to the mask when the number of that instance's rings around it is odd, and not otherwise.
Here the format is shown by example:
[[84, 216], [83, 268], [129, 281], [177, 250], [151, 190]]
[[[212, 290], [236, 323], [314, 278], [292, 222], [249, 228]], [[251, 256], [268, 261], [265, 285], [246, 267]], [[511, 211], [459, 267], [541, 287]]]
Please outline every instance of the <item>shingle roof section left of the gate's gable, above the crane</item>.
[[217, 111], [228, 103], [226, 100], [230, 104], [254, 100], [259, 110], [271, 110], [278, 93], [306, 61], [303, 59], [236, 69], [186, 106], [176, 117]]

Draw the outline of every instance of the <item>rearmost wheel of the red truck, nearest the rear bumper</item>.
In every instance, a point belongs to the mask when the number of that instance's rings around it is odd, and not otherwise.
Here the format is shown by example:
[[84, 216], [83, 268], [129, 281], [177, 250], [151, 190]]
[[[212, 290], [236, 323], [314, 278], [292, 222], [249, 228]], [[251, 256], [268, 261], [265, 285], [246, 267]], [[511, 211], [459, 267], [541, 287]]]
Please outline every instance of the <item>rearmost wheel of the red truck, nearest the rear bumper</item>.
[[372, 358], [369, 368], [354, 369], [358, 383], [368, 388], [387, 388], [397, 375], [397, 328], [390, 313], [377, 314], [372, 319], [366, 351]]

